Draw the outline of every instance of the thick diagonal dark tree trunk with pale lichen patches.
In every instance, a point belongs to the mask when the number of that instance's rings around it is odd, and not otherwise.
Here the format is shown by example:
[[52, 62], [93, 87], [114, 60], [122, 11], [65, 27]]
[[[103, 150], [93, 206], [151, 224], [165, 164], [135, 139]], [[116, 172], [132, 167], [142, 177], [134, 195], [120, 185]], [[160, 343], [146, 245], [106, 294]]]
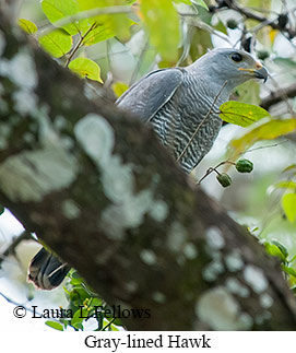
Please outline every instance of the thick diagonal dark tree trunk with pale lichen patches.
[[[0, 202], [133, 330], [292, 330], [279, 264], [140, 119], [0, 13]], [[99, 97], [100, 95], [100, 97]]]

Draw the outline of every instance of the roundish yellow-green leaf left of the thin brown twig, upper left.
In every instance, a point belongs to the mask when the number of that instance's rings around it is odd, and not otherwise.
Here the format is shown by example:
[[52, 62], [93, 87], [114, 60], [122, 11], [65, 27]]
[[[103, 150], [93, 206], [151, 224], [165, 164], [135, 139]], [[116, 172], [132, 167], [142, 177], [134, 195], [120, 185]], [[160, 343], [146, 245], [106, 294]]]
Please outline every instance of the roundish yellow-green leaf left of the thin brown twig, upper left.
[[39, 37], [40, 46], [52, 57], [60, 58], [72, 48], [72, 37], [63, 30], [55, 30]]

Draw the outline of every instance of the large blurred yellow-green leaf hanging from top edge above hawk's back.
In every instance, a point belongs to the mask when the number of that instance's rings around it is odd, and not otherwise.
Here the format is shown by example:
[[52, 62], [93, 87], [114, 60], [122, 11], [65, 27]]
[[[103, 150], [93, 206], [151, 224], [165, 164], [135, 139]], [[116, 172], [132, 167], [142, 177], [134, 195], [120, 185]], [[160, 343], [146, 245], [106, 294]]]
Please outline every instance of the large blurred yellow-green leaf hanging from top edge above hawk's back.
[[142, 0], [141, 12], [150, 40], [163, 60], [176, 62], [179, 44], [179, 19], [171, 0]]

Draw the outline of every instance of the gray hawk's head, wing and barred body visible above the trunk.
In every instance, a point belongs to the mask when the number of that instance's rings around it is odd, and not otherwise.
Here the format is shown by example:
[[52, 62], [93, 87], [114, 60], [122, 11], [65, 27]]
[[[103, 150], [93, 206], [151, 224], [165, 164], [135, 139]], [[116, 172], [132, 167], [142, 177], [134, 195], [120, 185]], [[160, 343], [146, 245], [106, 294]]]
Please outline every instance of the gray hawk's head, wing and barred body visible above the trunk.
[[[214, 49], [189, 67], [146, 74], [119, 97], [117, 105], [151, 123], [175, 158], [181, 156], [181, 168], [190, 173], [217, 137], [222, 126], [218, 107], [237, 85], [254, 78], [267, 80], [268, 71], [251, 55]], [[209, 115], [210, 110], [213, 113]]]

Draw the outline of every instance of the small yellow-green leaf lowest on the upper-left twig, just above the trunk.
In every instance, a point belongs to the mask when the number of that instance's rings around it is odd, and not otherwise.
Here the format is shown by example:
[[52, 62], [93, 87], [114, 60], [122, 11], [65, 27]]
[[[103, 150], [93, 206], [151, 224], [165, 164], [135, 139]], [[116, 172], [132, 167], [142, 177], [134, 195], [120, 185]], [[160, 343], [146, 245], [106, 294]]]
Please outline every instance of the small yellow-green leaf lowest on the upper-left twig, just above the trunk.
[[87, 58], [76, 58], [69, 63], [69, 69], [81, 78], [102, 82], [99, 66]]

